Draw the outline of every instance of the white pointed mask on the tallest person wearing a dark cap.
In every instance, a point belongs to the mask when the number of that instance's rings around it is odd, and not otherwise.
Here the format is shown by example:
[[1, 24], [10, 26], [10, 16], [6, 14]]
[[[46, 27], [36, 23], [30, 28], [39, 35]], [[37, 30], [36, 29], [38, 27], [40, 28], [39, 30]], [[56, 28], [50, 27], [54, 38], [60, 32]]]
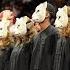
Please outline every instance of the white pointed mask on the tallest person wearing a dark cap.
[[43, 22], [46, 17], [46, 8], [47, 8], [47, 1], [44, 3], [39, 4], [35, 12], [32, 14], [32, 20], [34, 22]]

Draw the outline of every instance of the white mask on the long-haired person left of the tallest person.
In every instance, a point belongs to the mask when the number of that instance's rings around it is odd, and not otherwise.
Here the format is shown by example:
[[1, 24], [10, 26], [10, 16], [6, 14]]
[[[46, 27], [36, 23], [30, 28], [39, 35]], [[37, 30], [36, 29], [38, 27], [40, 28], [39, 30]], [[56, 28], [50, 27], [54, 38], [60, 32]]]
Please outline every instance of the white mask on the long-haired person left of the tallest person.
[[16, 18], [16, 23], [10, 27], [10, 32], [13, 35], [24, 35], [27, 32], [26, 23], [29, 20], [27, 16]]

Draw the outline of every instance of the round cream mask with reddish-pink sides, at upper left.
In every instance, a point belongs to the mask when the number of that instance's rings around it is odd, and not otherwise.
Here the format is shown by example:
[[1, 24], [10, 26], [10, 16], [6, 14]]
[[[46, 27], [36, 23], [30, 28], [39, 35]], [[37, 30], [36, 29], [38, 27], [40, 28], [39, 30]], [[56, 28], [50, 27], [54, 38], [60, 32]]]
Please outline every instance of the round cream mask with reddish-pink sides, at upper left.
[[6, 23], [7, 26], [9, 26], [11, 23], [13, 24], [14, 17], [15, 14], [10, 10], [4, 10], [0, 13], [0, 20], [3, 23]]

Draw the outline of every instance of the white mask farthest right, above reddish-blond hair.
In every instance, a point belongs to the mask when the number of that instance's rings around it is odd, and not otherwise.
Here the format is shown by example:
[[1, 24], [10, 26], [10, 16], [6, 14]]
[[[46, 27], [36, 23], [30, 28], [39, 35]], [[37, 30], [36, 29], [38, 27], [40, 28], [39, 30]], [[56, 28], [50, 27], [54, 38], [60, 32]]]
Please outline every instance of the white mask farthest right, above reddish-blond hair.
[[62, 28], [67, 26], [68, 24], [68, 15], [67, 15], [67, 6], [63, 8], [58, 8], [58, 12], [56, 13], [55, 27]]

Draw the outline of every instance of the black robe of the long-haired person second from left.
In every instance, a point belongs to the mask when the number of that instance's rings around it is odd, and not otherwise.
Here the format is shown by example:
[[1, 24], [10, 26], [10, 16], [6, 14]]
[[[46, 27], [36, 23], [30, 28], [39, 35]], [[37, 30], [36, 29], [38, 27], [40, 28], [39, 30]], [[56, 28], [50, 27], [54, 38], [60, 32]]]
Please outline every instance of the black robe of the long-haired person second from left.
[[9, 70], [29, 70], [31, 52], [29, 44], [18, 43], [15, 45], [10, 57]]

